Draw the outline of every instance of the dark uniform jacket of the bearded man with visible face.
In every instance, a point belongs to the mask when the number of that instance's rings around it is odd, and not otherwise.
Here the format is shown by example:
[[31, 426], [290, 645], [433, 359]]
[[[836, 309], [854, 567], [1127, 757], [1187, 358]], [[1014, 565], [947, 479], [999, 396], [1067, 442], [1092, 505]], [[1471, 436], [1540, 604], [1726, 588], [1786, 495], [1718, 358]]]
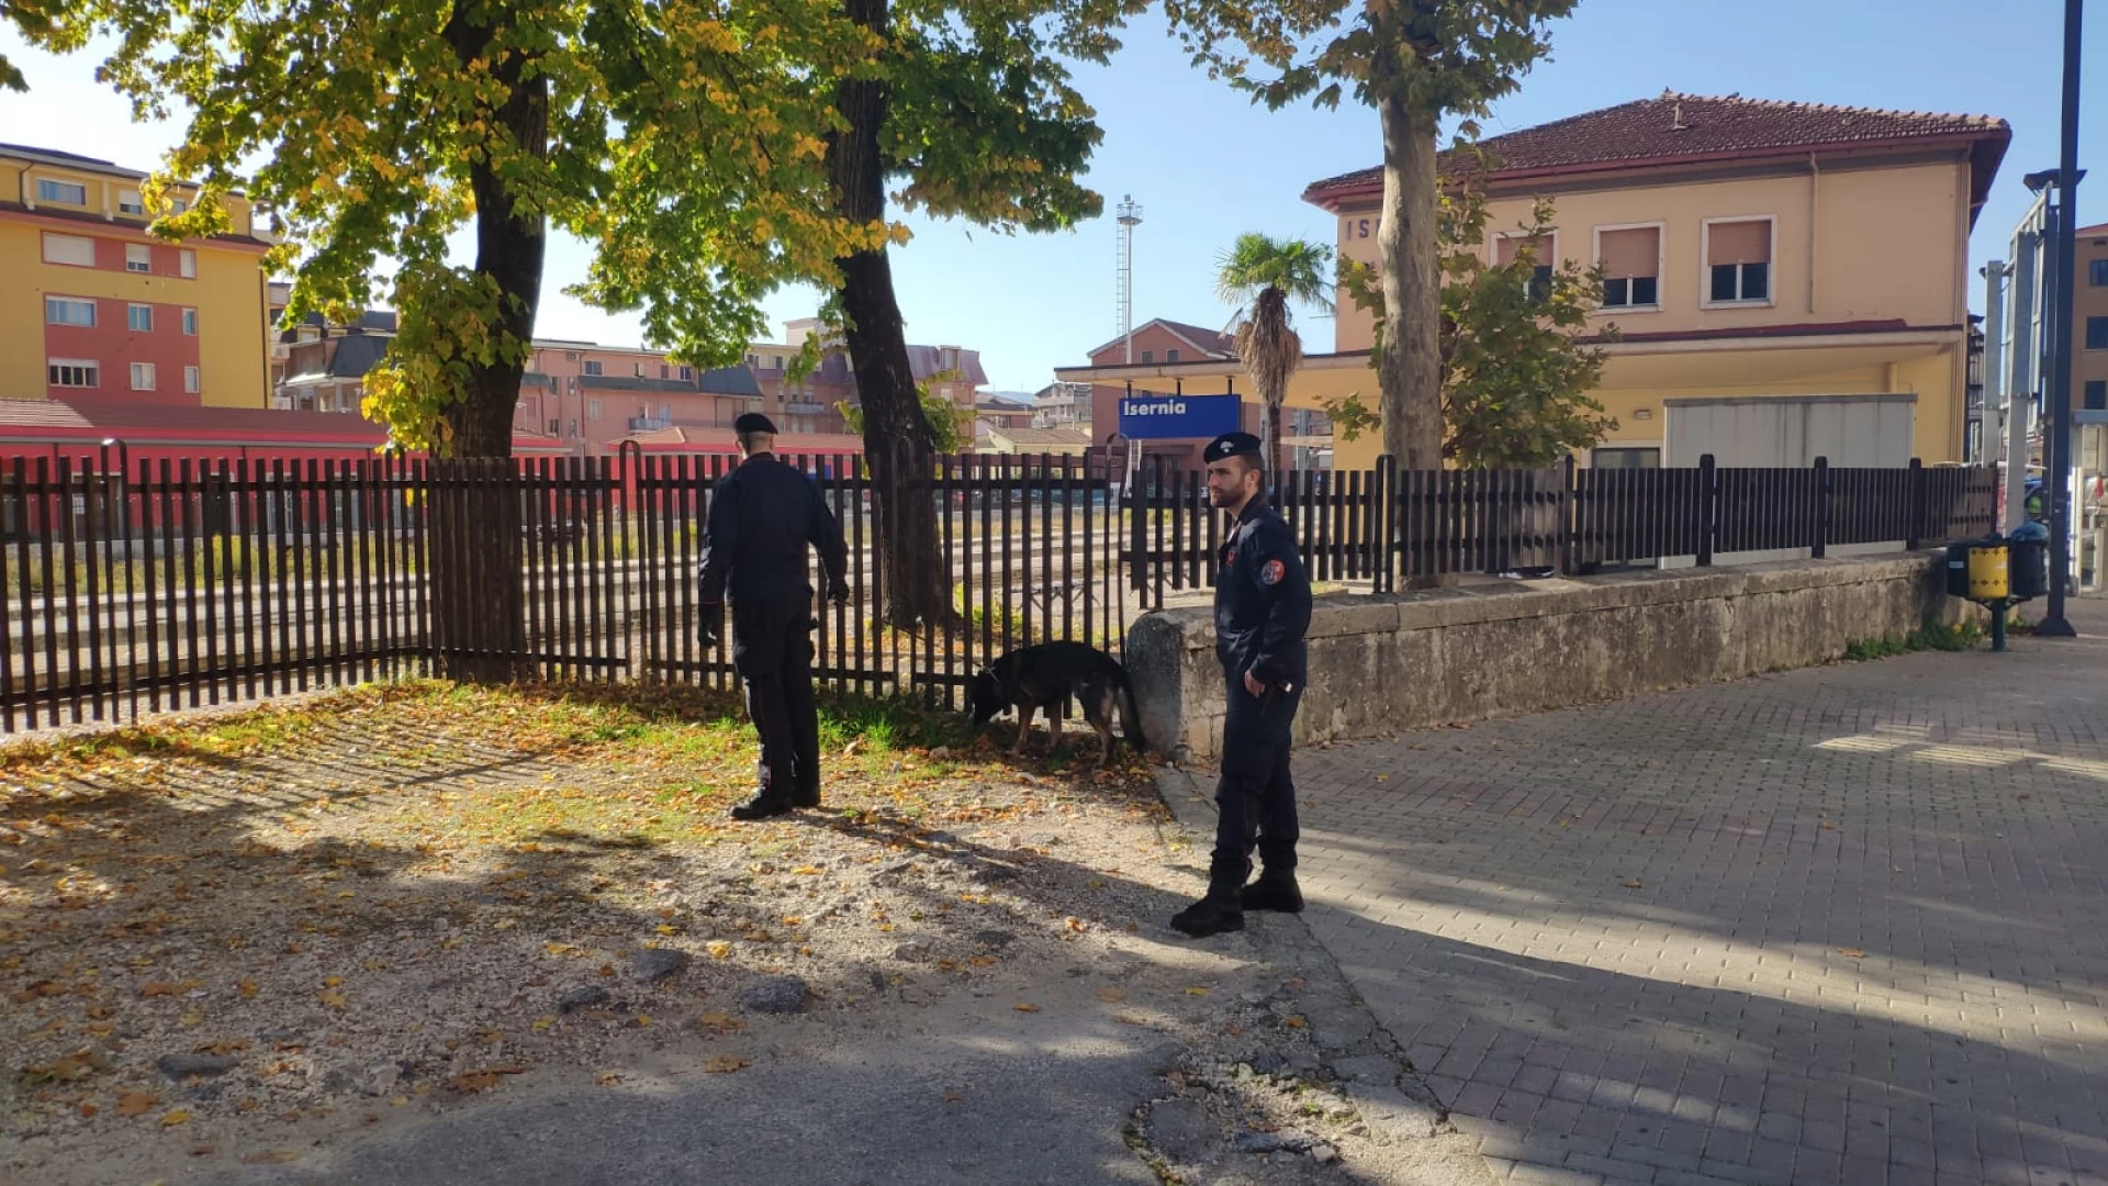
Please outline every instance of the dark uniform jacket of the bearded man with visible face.
[[1223, 673], [1261, 684], [1303, 684], [1311, 582], [1288, 521], [1252, 498], [1216, 553], [1214, 656]]

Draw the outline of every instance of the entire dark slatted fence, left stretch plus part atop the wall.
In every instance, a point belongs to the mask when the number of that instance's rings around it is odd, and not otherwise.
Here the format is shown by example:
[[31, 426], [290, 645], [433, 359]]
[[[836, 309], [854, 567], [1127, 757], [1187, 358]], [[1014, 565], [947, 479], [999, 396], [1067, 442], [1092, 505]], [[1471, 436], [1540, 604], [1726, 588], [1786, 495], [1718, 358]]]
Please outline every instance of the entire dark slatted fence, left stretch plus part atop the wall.
[[[1119, 481], [1084, 458], [940, 458], [942, 620], [881, 608], [873, 487], [854, 456], [788, 456], [835, 509], [852, 597], [816, 604], [818, 677], [957, 705], [1014, 646], [1119, 650], [1128, 623], [1214, 580], [1223, 515], [1199, 473]], [[497, 658], [542, 680], [731, 686], [698, 642], [696, 566], [729, 458], [190, 460], [108, 454], [0, 471], [0, 728], [23, 730], [438, 673]], [[1988, 468], [1286, 473], [1275, 502], [1313, 578], [1370, 591], [1463, 572], [1585, 574], [1722, 553], [1895, 542], [1992, 525]], [[447, 513], [460, 506], [470, 513]], [[512, 580], [516, 576], [516, 580]], [[447, 595], [508, 589], [495, 608]], [[491, 650], [479, 614], [516, 618]]]

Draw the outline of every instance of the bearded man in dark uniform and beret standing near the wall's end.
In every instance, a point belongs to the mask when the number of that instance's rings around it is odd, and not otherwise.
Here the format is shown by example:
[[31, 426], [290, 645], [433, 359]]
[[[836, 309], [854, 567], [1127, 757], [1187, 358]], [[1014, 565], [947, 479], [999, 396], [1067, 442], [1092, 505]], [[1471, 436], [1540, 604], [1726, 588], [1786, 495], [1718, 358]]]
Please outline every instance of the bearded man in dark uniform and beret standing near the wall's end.
[[[1296, 886], [1296, 785], [1288, 777], [1288, 726], [1303, 701], [1311, 625], [1311, 582], [1288, 521], [1261, 492], [1258, 437], [1223, 433], [1202, 452], [1208, 500], [1235, 525], [1216, 555], [1214, 656], [1229, 686], [1223, 720], [1223, 777], [1208, 895], [1172, 918], [1204, 937], [1242, 931], [1246, 910], [1303, 910]], [[1265, 863], [1252, 872], [1252, 844]]]

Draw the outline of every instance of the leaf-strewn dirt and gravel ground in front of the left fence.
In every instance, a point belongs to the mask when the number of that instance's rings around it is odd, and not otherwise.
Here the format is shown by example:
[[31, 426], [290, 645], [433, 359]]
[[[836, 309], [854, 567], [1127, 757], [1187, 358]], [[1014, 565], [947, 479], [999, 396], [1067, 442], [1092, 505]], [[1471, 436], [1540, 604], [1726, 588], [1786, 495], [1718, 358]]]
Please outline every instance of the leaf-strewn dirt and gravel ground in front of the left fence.
[[[1221, 1078], [1187, 1146], [1336, 1165], [1301, 975], [1164, 929], [1199, 876], [1149, 766], [1010, 737], [831, 705], [826, 806], [759, 825], [725, 817], [753, 734], [691, 690], [405, 684], [0, 749], [0, 1175], [323, 1169], [508, 1095], [1056, 1015], [1159, 1045], [1159, 1104]], [[1235, 1070], [1258, 1038], [1280, 1080]], [[1296, 1114], [1339, 1135], [1231, 1144]]]

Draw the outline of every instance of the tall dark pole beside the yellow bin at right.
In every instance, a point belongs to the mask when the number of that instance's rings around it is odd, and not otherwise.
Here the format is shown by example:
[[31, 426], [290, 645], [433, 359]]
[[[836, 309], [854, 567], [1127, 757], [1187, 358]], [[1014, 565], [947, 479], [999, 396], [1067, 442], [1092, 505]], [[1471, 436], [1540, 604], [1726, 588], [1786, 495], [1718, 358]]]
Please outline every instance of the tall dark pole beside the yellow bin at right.
[[2049, 306], [2055, 355], [2049, 380], [2049, 462], [2043, 483], [2049, 485], [2049, 606], [2034, 633], [2072, 637], [2078, 631], [2064, 616], [2064, 595], [2072, 580], [2072, 283], [2078, 222], [2078, 34], [2085, 2], [2064, 0], [2064, 144], [2057, 152], [2057, 213], [2051, 241], [2051, 276], [2055, 300]]

